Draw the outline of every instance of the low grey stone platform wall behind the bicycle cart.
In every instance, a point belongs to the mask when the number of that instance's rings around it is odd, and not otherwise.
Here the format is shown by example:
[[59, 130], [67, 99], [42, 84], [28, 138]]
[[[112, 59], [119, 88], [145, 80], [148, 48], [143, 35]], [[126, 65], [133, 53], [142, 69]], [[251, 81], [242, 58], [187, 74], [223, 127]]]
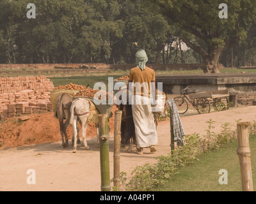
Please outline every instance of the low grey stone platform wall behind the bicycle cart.
[[168, 94], [181, 94], [188, 86], [198, 92], [228, 89], [230, 94], [256, 94], [256, 74], [252, 73], [157, 76], [156, 82], [162, 82]]

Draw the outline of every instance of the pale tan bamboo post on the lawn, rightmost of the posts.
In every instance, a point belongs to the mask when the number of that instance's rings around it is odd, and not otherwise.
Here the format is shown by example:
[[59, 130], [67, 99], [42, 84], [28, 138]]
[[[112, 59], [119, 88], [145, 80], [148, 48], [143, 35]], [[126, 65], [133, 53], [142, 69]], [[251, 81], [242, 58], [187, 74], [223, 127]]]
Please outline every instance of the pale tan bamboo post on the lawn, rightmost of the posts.
[[239, 157], [243, 191], [253, 191], [249, 126], [250, 122], [237, 123], [237, 155]]

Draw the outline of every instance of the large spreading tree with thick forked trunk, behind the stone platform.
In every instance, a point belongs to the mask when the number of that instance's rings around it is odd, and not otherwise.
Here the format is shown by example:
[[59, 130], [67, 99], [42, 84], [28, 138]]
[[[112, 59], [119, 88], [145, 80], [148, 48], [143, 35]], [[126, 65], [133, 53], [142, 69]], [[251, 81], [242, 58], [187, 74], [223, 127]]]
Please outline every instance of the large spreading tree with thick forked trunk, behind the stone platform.
[[[145, 5], [163, 13], [169, 24], [180, 29], [182, 41], [202, 55], [205, 73], [219, 72], [221, 53], [246, 38], [246, 26], [256, 14], [256, 1], [250, 0], [150, 0], [150, 3]], [[227, 19], [219, 17], [221, 3], [227, 3]], [[204, 46], [199, 45], [198, 40], [202, 40]]]

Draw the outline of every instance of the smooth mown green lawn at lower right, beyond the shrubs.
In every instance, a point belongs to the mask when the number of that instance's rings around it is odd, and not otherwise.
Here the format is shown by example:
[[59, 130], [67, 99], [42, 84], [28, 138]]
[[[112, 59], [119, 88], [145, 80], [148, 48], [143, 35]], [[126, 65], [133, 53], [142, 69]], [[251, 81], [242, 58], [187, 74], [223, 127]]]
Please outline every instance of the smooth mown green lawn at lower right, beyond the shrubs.
[[[253, 182], [256, 182], [256, 138], [250, 136]], [[199, 161], [181, 168], [163, 187], [154, 191], [242, 191], [239, 158], [236, 154], [237, 141], [220, 147], [219, 150], [205, 152], [198, 156]], [[219, 171], [228, 172], [228, 184], [219, 184]], [[254, 185], [255, 186], [255, 185]]]

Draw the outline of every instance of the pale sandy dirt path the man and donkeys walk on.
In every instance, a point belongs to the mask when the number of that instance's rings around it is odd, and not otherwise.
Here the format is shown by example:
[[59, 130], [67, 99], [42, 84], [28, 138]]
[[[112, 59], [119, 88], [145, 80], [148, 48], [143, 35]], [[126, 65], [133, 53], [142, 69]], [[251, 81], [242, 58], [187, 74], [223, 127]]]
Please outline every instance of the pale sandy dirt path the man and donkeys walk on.
[[[182, 125], [186, 134], [205, 133], [206, 121], [215, 121], [214, 131], [220, 132], [221, 124], [230, 122], [236, 129], [236, 120], [253, 122], [256, 107], [247, 106], [223, 112], [182, 117]], [[157, 152], [139, 156], [121, 152], [120, 171], [131, 175], [132, 168], [145, 163], [155, 163], [157, 156], [170, 152], [169, 120], [159, 122], [157, 126]], [[0, 150], [0, 191], [100, 191], [100, 154], [96, 138], [88, 139], [90, 150], [77, 147], [72, 154], [72, 147], [62, 149], [61, 142], [44, 143], [28, 147], [15, 147]], [[113, 178], [113, 133], [110, 134], [109, 145], [110, 177]], [[35, 170], [36, 184], [28, 185], [29, 169]]]

